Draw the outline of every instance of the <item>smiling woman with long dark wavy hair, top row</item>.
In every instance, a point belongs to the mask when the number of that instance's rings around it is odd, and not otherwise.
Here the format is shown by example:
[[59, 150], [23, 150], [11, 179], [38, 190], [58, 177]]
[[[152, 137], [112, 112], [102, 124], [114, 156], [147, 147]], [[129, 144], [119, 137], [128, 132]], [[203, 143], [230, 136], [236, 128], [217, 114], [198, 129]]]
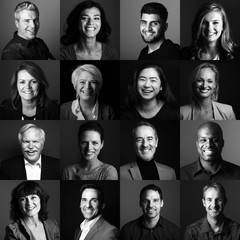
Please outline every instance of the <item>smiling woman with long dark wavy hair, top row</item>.
[[111, 27], [102, 6], [94, 1], [79, 3], [67, 18], [61, 37], [62, 60], [118, 60], [119, 54], [108, 44]]

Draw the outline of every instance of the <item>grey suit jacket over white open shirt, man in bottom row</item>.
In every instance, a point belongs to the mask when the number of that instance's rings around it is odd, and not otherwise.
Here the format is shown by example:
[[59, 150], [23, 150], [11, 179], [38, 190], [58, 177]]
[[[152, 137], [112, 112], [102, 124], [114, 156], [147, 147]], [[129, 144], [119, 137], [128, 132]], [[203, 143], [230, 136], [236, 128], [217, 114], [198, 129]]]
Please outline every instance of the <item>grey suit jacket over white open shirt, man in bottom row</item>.
[[[81, 229], [75, 232], [74, 240], [79, 240]], [[117, 240], [119, 239], [119, 229], [100, 217], [92, 226], [84, 240]]]

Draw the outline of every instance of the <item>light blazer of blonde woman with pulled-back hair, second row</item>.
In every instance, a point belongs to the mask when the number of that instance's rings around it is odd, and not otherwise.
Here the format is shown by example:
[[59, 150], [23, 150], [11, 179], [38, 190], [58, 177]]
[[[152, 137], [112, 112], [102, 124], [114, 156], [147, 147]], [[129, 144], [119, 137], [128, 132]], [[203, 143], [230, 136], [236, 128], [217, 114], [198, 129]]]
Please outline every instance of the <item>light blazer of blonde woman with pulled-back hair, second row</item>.
[[[235, 120], [235, 114], [231, 105], [212, 101], [214, 120]], [[194, 119], [195, 105], [188, 104], [180, 107], [181, 120]]]

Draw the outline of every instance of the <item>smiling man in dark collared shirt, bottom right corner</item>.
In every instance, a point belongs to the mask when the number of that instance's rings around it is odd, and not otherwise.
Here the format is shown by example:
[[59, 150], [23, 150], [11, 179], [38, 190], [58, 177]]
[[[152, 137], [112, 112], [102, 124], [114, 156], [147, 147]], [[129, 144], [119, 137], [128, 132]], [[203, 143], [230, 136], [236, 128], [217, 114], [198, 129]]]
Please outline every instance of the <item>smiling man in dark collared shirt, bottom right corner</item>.
[[207, 216], [186, 228], [184, 240], [240, 239], [240, 225], [223, 214], [227, 196], [220, 183], [210, 183], [203, 188], [202, 203]]

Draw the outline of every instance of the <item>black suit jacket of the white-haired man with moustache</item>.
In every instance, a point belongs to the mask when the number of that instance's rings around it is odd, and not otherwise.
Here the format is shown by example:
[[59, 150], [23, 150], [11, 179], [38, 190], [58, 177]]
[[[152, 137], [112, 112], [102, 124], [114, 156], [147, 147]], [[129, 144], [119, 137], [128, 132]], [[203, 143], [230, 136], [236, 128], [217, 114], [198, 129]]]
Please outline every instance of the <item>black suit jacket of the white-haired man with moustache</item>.
[[[60, 179], [60, 165], [56, 158], [42, 156], [41, 180]], [[17, 156], [1, 162], [0, 179], [27, 180], [24, 158]]]

